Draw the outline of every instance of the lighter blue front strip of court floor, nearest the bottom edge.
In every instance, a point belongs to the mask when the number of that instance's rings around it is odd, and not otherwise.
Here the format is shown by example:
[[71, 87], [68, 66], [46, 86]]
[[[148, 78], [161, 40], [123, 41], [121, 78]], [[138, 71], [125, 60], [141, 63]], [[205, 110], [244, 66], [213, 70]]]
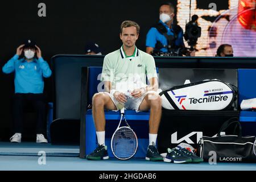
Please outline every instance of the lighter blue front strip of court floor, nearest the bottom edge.
[[46, 156], [46, 164], [38, 164], [39, 156], [0, 156], [0, 170], [68, 170], [68, 171], [256, 171], [256, 164], [209, 163], [173, 164], [144, 159], [86, 160], [77, 157]]

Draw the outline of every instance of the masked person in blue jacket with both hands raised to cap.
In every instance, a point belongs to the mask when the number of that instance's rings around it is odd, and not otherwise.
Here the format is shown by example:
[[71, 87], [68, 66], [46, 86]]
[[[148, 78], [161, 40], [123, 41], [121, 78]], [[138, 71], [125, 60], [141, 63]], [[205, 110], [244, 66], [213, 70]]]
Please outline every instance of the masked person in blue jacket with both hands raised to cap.
[[[22, 53], [24, 57], [19, 59]], [[43, 135], [46, 121], [43, 77], [51, 76], [52, 72], [48, 63], [43, 60], [40, 48], [31, 40], [27, 40], [16, 49], [16, 54], [3, 66], [2, 71], [6, 74], [15, 73], [14, 135], [10, 138], [11, 142], [21, 142], [23, 107], [32, 104], [38, 113], [36, 142], [47, 143]]]

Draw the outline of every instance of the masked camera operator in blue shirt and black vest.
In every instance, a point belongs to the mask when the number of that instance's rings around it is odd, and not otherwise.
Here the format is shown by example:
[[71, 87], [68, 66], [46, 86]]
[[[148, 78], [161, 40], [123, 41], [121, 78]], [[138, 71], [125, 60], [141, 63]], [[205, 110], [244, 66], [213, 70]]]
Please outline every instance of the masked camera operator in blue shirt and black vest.
[[175, 7], [163, 3], [159, 8], [159, 22], [150, 28], [146, 38], [146, 52], [153, 56], [195, 56], [187, 51], [183, 42], [183, 30], [174, 23]]

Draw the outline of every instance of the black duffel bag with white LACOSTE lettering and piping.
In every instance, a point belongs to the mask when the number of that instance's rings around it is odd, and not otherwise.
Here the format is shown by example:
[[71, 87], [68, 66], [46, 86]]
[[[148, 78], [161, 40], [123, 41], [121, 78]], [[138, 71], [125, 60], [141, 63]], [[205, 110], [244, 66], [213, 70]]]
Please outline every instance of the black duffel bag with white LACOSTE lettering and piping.
[[[230, 126], [234, 126], [234, 135], [221, 135]], [[237, 134], [237, 135], [235, 135]], [[205, 162], [216, 154], [216, 162], [256, 163], [255, 136], [242, 137], [242, 128], [238, 118], [231, 118], [221, 126], [217, 137], [202, 137], [198, 151]]]

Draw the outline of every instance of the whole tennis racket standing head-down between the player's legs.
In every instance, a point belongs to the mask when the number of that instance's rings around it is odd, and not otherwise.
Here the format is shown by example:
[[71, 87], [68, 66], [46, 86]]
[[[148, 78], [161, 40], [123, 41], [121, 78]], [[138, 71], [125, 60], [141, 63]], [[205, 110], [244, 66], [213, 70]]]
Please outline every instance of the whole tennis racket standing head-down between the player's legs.
[[[126, 126], [121, 126], [124, 119]], [[125, 109], [121, 109], [121, 119], [111, 138], [111, 149], [114, 156], [120, 160], [127, 160], [134, 156], [138, 148], [138, 138], [125, 119]]]

